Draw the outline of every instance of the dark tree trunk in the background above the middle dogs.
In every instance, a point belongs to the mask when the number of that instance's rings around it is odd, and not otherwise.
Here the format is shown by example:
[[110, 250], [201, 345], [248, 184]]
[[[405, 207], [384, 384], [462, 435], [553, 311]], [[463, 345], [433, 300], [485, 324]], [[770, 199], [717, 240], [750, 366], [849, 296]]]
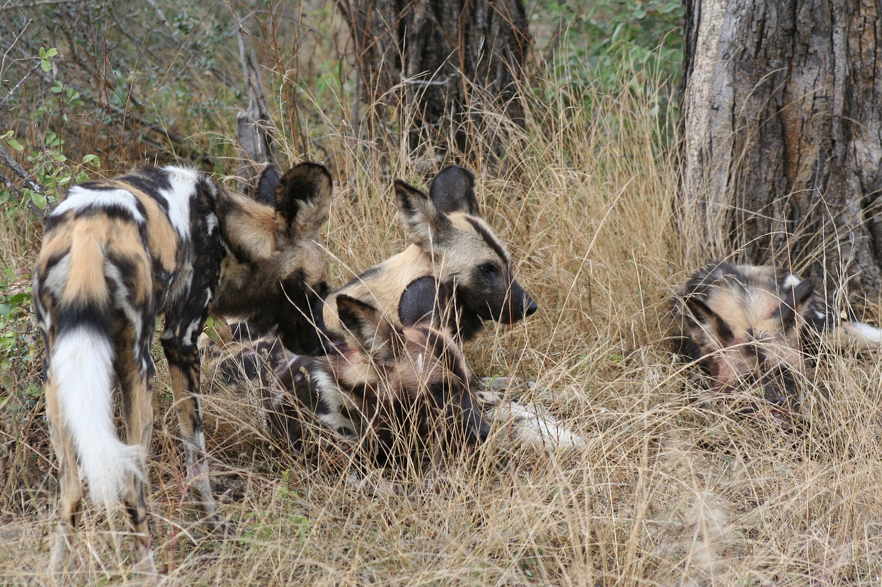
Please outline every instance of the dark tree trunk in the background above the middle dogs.
[[[520, 120], [517, 86], [530, 45], [523, 0], [337, 0], [337, 5], [351, 31], [365, 101], [373, 108], [390, 100], [413, 108], [412, 149], [427, 138], [445, 147], [453, 137], [461, 152], [469, 152], [475, 133], [492, 134], [476, 114], [483, 104], [505, 108], [512, 120]], [[490, 145], [495, 142], [490, 137]]]

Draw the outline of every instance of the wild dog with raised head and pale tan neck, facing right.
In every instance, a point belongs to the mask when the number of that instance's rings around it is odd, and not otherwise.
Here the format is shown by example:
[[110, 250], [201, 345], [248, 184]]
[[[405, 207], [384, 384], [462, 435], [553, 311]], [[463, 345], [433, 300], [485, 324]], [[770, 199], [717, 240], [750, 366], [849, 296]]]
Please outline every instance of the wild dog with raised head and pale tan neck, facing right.
[[486, 320], [511, 324], [536, 311], [512, 276], [505, 247], [478, 215], [469, 171], [446, 167], [430, 196], [396, 181], [395, 201], [412, 244], [328, 295], [324, 318], [332, 340], [343, 336], [335, 311], [341, 294], [376, 306], [398, 325], [433, 316], [461, 340], [474, 338]]

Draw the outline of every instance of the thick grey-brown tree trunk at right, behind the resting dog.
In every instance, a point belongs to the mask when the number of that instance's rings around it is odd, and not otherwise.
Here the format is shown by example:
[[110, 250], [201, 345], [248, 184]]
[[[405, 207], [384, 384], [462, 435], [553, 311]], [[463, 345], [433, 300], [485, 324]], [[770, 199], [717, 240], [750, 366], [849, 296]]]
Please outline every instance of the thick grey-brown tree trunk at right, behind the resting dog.
[[734, 253], [878, 296], [880, 7], [685, 0], [679, 220], [691, 263]]

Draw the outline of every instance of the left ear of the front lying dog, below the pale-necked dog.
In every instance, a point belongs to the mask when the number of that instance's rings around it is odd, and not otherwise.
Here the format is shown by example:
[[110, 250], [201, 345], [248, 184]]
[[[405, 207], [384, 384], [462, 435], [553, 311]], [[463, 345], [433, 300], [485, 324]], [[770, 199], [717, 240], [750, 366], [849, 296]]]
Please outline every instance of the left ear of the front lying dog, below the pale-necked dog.
[[391, 361], [398, 353], [400, 332], [383, 313], [348, 295], [337, 296], [337, 315], [349, 346], [361, 349], [371, 360]]

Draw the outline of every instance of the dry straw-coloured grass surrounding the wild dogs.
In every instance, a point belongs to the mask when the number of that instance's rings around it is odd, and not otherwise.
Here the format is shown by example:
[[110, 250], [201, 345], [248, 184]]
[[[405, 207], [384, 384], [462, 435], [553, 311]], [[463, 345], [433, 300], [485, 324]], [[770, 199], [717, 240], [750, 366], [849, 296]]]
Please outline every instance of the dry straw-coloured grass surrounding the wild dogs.
[[[325, 16], [325, 45], [301, 48], [313, 59], [333, 47], [327, 39], [340, 24]], [[318, 77], [301, 64], [301, 76]], [[239, 69], [232, 59], [226, 66]], [[497, 434], [436, 483], [405, 479], [406, 496], [383, 497], [347, 483], [338, 461], [267, 450], [253, 398], [215, 388], [204, 403], [213, 483], [239, 530], [218, 541], [184, 495], [158, 360], [149, 503], [159, 583], [878, 584], [878, 356], [822, 354], [804, 433], [738, 416], [732, 398], [692, 387], [663, 343], [667, 300], [704, 260], [684, 259], [671, 229], [676, 160], [655, 115], [665, 90], [646, 71], [619, 79], [620, 92], [603, 93], [545, 73], [529, 93], [526, 128], [497, 117], [507, 124], [503, 158], [476, 169], [483, 212], [541, 310], [515, 328], [491, 328], [467, 356], [478, 373], [541, 383], [545, 391], [515, 393], [555, 413], [587, 448], [534, 454]], [[290, 137], [288, 106], [272, 86], [279, 78], [265, 81], [274, 122]], [[282, 146], [291, 159], [330, 156], [339, 189], [327, 244], [342, 283], [403, 246], [392, 178], [425, 178], [403, 137], [358, 134], [348, 119], [354, 96], [332, 86], [297, 95], [310, 150], [290, 139]], [[338, 108], [319, 108], [333, 100]], [[232, 137], [233, 115], [221, 114], [221, 136]], [[39, 225], [24, 218], [6, 214], [0, 230], [3, 263], [26, 273]], [[54, 456], [33, 393], [37, 365], [12, 367], [0, 397], [0, 583], [46, 583]], [[211, 382], [207, 366], [205, 375]], [[94, 514], [83, 519], [75, 581], [138, 582], [122, 516], [108, 531]]]

